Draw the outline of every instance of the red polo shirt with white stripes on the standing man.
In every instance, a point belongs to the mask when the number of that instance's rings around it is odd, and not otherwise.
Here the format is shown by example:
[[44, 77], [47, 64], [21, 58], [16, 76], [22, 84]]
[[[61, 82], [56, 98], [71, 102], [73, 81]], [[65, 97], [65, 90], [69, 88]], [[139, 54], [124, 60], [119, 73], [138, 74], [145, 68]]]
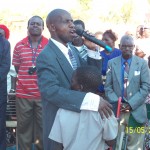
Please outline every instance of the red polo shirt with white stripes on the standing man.
[[30, 46], [28, 37], [16, 44], [12, 64], [19, 67], [16, 85], [17, 97], [28, 99], [40, 98], [36, 72], [29, 75], [28, 70], [33, 65], [32, 59], [34, 58], [34, 55], [36, 59], [47, 43], [48, 39], [42, 36], [38, 48], [32, 48]]

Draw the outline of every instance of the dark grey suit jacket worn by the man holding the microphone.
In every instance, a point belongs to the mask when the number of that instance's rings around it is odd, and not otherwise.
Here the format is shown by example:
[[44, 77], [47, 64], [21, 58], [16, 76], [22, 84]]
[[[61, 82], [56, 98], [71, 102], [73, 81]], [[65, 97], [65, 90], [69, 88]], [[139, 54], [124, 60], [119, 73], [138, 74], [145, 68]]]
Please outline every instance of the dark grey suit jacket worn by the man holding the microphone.
[[[73, 49], [78, 66], [86, 65]], [[101, 62], [88, 58], [88, 63], [100, 67]], [[80, 112], [86, 93], [69, 90], [73, 69], [61, 50], [50, 40], [36, 62], [38, 85], [43, 104], [44, 149], [48, 149], [48, 135], [58, 108]], [[101, 70], [100, 70], [101, 71]]]

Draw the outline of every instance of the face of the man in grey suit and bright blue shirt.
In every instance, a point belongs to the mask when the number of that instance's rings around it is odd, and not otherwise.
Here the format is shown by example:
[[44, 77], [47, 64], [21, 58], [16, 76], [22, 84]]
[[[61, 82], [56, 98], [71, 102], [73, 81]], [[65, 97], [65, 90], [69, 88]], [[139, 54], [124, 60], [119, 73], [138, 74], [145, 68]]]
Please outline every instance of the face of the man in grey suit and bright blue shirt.
[[129, 59], [130, 57], [132, 57], [134, 47], [135, 45], [132, 39], [124, 39], [119, 45], [119, 48], [122, 51], [122, 57], [124, 59]]

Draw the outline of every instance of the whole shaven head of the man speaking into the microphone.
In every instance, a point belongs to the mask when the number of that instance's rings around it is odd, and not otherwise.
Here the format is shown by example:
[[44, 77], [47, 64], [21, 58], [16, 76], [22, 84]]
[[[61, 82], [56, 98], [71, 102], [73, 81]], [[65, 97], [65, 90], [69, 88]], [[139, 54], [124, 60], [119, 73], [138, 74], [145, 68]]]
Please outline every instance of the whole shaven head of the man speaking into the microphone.
[[51, 38], [67, 45], [74, 38], [75, 28], [71, 14], [63, 9], [54, 9], [46, 19], [47, 28], [51, 34]]

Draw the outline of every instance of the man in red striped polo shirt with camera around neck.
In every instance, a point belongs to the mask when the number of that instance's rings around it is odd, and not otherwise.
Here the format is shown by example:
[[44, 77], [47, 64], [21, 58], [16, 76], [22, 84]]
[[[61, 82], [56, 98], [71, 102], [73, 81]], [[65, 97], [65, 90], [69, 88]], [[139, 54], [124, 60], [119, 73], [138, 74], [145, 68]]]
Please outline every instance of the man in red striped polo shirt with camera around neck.
[[33, 16], [28, 21], [28, 36], [19, 41], [13, 52], [12, 64], [17, 72], [16, 110], [18, 143], [21, 150], [43, 149], [42, 106], [37, 84], [36, 58], [48, 43], [42, 35], [44, 21]]

